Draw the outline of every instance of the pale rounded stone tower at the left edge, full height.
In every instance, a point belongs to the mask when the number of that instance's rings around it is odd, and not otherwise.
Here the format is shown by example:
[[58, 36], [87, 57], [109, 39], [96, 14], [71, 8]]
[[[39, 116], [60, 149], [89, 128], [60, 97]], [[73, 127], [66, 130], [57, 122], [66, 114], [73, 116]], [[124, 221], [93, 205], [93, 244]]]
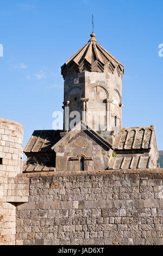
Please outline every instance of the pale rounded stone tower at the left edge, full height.
[[22, 154], [22, 125], [0, 119], [0, 245], [15, 244], [16, 205], [9, 202], [16, 202], [13, 178], [21, 173]]

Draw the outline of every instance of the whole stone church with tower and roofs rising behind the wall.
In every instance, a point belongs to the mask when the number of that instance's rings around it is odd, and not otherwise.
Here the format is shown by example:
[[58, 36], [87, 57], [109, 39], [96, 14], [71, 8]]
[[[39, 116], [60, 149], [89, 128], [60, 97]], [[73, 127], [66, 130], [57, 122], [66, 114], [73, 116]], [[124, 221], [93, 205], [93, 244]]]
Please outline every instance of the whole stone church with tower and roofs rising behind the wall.
[[122, 128], [124, 66], [91, 39], [61, 66], [64, 130], [34, 131], [24, 172], [156, 168], [155, 127]]

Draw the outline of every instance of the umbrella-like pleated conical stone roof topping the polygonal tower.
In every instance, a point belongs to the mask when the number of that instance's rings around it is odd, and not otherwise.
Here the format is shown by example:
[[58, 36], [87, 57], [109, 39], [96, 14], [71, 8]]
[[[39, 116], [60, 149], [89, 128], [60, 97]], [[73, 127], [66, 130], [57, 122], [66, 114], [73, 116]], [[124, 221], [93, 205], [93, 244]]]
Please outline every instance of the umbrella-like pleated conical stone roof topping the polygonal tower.
[[104, 72], [106, 66], [112, 73], [117, 70], [119, 76], [124, 74], [124, 66], [98, 44], [92, 33], [89, 42], [61, 66], [61, 74], [65, 78], [75, 72]]

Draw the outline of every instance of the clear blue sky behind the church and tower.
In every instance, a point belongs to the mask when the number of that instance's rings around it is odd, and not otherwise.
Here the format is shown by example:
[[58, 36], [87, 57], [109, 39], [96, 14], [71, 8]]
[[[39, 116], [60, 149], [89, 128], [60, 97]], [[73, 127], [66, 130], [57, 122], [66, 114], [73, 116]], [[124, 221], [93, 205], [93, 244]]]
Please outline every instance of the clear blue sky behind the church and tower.
[[24, 126], [24, 147], [62, 111], [60, 66], [90, 39], [93, 13], [97, 41], [125, 66], [123, 127], [154, 124], [163, 150], [162, 8], [162, 0], [0, 2], [0, 117]]

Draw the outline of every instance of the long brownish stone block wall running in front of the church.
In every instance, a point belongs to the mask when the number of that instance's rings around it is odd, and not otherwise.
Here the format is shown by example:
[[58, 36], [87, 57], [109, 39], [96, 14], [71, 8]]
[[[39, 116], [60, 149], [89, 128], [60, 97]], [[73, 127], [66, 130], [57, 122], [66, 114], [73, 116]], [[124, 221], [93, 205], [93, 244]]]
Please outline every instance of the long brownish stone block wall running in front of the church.
[[163, 169], [28, 173], [21, 245], [163, 245]]

